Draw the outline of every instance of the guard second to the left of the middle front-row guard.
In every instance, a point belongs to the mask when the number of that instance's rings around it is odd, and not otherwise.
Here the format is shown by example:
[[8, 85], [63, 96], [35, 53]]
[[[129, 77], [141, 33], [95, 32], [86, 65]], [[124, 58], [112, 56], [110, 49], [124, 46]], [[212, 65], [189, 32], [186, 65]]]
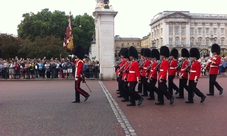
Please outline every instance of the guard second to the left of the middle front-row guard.
[[141, 81], [142, 81], [142, 86], [143, 86], [143, 94], [142, 96], [148, 96], [148, 89], [149, 89], [149, 84], [147, 82], [147, 77], [146, 77], [146, 74], [147, 74], [147, 68], [148, 66], [150, 66], [151, 64], [151, 61], [149, 60], [149, 57], [150, 57], [150, 49], [148, 48], [145, 48], [144, 49], [144, 64], [142, 66], [142, 72], [141, 72]]

